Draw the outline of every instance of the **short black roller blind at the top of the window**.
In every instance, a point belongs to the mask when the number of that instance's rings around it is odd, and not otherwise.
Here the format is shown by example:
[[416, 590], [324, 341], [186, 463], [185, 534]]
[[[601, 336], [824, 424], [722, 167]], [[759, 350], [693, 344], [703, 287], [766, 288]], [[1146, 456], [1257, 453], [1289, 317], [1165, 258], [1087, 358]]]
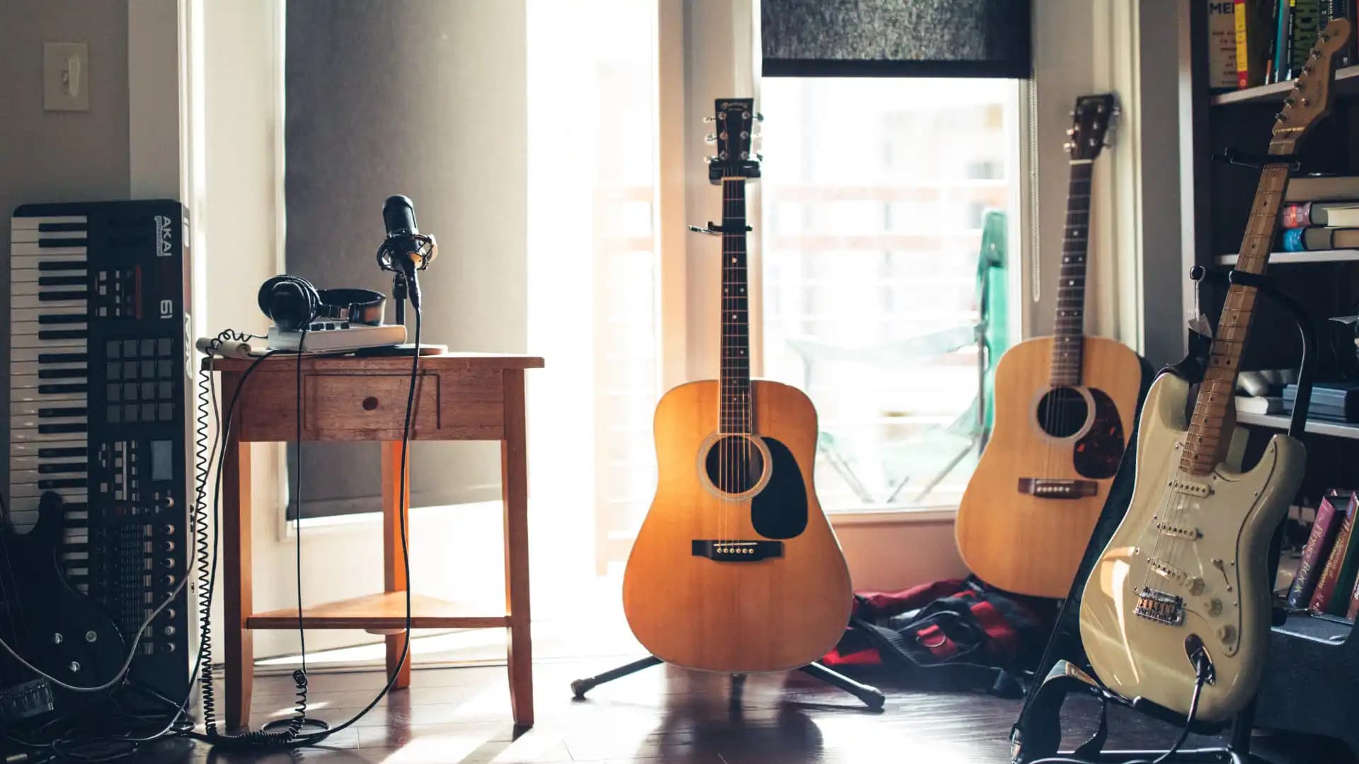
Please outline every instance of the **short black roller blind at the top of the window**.
[[761, 0], [766, 77], [1027, 77], [1030, 0]]

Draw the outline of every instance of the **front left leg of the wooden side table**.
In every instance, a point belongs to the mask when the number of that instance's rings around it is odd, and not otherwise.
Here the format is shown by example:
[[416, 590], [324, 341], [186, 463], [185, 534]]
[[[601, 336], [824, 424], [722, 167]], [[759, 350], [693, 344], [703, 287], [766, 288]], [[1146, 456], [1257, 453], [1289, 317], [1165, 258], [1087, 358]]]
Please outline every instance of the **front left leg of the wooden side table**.
[[[227, 387], [227, 385], [223, 385]], [[250, 443], [232, 432], [222, 465], [223, 636], [226, 638], [226, 723], [238, 730], [250, 723], [254, 689], [254, 635], [246, 619], [254, 608], [250, 575]]]

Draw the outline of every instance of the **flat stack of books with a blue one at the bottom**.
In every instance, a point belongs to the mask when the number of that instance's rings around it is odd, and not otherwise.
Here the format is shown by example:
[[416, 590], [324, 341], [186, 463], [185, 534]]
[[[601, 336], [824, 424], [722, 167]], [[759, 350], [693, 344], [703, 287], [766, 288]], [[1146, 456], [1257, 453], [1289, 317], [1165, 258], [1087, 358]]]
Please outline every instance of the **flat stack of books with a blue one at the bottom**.
[[1359, 249], [1359, 177], [1294, 178], [1284, 201], [1280, 250]]

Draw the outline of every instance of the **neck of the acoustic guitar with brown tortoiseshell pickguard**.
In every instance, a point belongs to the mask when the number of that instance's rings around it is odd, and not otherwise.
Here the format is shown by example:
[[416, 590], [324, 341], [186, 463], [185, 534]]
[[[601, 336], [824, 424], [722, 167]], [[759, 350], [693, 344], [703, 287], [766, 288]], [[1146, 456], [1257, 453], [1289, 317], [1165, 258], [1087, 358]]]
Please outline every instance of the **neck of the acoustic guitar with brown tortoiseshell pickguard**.
[[1072, 159], [1067, 226], [1061, 239], [1057, 317], [1052, 337], [1053, 387], [1080, 385], [1086, 322], [1086, 257], [1090, 250], [1090, 177], [1094, 159]]

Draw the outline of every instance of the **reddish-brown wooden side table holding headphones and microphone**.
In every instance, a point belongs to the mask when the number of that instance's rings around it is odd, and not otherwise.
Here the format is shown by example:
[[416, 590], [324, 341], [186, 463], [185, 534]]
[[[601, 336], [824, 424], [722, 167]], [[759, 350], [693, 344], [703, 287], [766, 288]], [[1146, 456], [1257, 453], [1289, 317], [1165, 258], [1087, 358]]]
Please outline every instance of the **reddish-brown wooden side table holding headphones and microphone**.
[[[226, 723], [250, 722], [254, 684], [251, 629], [298, 627], [298, 610], [255, 613], [250, 575], [250, 447], [292, 440], [298, 432], [298, 359], [276, 356], [260, 363], [204, 360], [222, 372], [222, 406], [236, 389], [234, 427], [222, 470], [223, 602], [226, 609]], [[531, 356], [446, 353], [421, 356], [410, 436], [417, 440], [500, 440], [504, 499], [506, 608], [503, 613], [469, 614], [451, 602], [413, 597], [413, 628], [506, 628], [510, 642], [510, 703], [515, 725], [533, 725], [533, 651], [529, 631], [529, 502], [525, 447], [523, 372], [541, 368]], [[330, 356], [302, 362], [302, 438], [304, 440], [381, 440], [385, 586], [367, 594], [304, 608], [306, 628], [400, 631], [405, 627], [405, 567], [398, 517], [401, 430], [410, 383], [409, 358]], [[242, 386], [243, 382], [243, 386]], [[408, 458], [409, 461], [409, 458]], [[409, 466], [409, 465], [408, 465]], [[408, 499], [409, 500], [409, 499]], [[409, 533], [409, 517], [406, 522]], [[401, 657], [402, 633], [389, 635], [387, 672]], [[410, 684], [408, 657], [395, 688]]]

